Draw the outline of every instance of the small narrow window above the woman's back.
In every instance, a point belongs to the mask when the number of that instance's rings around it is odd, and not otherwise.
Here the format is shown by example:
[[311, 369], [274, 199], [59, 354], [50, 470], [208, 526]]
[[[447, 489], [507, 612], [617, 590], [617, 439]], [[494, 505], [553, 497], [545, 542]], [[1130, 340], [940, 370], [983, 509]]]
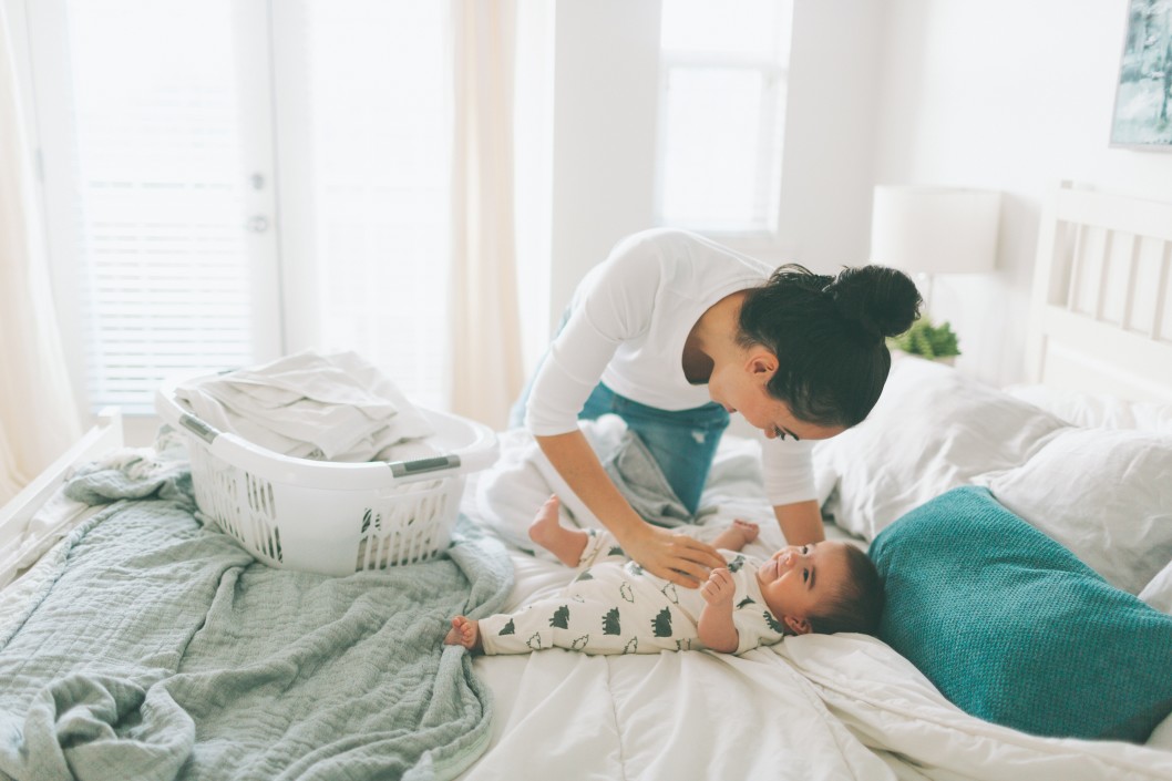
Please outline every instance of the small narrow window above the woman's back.
[[661, 224], [776, 231], [791, 19], [786, 0], [663, 0]]

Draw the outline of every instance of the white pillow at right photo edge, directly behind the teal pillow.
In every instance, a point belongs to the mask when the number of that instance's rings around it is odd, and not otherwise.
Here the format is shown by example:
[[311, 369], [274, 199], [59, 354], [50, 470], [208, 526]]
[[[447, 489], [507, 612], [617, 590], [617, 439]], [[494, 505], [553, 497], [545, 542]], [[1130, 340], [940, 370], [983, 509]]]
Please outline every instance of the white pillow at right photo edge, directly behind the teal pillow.
[[1139, 593], [1172, 559], [1172, 437], [1070, 428], [980, 482], [1124, 591]]

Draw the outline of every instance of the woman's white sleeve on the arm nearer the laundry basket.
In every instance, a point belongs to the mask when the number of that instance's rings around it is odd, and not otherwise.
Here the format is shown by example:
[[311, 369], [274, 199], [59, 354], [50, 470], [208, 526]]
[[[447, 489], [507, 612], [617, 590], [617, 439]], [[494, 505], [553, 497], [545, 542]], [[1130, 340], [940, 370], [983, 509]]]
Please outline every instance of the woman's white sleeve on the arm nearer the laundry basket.
[[615, 351], [650, 327], [661, 279], [660, 253], [639, 233], [587, 276], [533, 379], [525, 407], [530, 432], [553, 436], [578, 429], [578, 413]]

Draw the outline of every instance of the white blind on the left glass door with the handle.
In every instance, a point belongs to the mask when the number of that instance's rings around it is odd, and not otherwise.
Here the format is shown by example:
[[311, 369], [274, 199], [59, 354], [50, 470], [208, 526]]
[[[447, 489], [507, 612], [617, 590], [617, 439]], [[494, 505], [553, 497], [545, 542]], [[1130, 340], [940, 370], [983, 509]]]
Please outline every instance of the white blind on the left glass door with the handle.
[[253, 288], [274, 280], [254, 278], [245, 231], [232, 6], [67, 5], [76, 191], [66, 209], [95, 408], [149, 412], [164, 376], [257, 358]]

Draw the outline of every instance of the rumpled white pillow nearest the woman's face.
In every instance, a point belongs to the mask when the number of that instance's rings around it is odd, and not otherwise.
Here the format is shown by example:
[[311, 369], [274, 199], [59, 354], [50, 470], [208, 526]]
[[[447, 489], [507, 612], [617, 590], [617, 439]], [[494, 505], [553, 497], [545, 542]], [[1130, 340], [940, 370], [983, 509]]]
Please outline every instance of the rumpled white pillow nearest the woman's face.
[[873, 539], [929, 498], [1024, 463], [1063, 426], [948, 366], [900, 358], [867, 420], [815, 447], [823, 511]]

